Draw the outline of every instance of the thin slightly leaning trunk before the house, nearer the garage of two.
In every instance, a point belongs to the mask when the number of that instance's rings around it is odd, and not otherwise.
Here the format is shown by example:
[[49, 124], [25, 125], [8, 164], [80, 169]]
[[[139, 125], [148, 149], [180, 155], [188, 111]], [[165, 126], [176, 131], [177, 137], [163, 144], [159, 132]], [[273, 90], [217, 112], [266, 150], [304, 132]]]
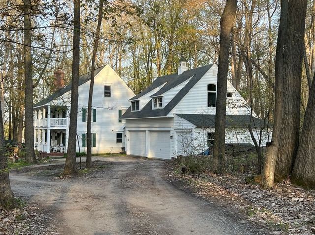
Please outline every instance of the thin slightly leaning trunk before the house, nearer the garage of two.
[[91, 67], [91, 80], [90, 80], [90, 89], [89, 89], [89, 100], [88, 100], [88, 123], [87, 123], [87, 160], [86, 160], [86, 167], [90, 168], [92, 166], [92, 160], [91, 160], [91, 118], [92, 118], [92, 98], [93, 98], [93, 86], [94, 86], [94, 77], [95, 77], [95, 59], [96, 59], [96, 53], [98, 48], [98, 42], [99, 42], [99, 33], [100, 33], [100, 27], [102, 24], [102, 16], [103, 16], [103, 4], [104, 1], [99, 1], [99, 12], [98, 12], [98, 22], [97, 22], [97, 28], [96, 28], [96, 36], [95, 36], [95, 42], [93, 47], [93, 54], [92, 54], [92, 67]]

